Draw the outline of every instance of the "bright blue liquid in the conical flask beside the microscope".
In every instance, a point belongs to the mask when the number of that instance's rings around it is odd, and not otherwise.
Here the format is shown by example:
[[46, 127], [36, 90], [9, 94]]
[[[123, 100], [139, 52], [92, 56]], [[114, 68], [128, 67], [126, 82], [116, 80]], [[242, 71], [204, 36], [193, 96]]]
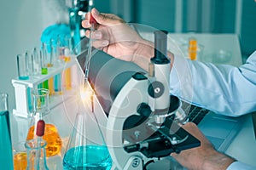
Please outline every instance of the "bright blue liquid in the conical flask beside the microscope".
[[112, 159], [106, 146], [78, 146], [67, 150], [63, 167], [64, 170], [110, 170]]

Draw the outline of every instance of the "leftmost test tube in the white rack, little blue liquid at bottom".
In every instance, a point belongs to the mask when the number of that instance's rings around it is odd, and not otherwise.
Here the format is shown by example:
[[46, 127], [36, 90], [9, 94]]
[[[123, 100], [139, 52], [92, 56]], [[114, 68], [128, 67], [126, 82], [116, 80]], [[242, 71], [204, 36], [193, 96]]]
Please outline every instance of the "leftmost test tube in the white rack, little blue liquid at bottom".
[[17, 55], [18, 77], [20, 80], [28, 80], [28, 54]]

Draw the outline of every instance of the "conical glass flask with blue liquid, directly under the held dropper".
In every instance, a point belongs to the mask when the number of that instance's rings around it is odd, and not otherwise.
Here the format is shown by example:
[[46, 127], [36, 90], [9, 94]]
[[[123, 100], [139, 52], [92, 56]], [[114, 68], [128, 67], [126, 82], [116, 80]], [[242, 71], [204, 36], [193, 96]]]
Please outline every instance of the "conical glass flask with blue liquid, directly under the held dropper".
[[96, 117], [91, 111], [79, 112], [63, 158], [63, 167], [70, 169], [108, 170], [112, 159]]

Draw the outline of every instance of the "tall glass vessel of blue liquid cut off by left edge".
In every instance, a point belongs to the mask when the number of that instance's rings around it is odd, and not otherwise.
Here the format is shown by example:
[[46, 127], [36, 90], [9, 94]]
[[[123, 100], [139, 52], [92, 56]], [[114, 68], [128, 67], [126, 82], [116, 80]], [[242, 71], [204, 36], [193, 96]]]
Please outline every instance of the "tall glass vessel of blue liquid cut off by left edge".
[[12, 141], [8, 111], [8, 94], [0, 93], [0, 165], [13, 169]]

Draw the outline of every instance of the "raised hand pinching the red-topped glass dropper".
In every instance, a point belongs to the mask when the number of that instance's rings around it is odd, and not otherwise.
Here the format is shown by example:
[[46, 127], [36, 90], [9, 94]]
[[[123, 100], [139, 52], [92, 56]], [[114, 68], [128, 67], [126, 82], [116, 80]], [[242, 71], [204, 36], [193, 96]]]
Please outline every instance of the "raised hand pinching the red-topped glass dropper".
[[[143, 69], [148, 69], [148, 62], [154, 55], [152, 42], [140, 37], [118, 16], [99, 13], [96, 8], [92, 8], [91, 12], [85, 15], [85, 20], [82, 21], [84, 28], [90, 28], [90, 15], [97, 22], [96, 31], [91, 35], [95, 39], [93, 42], [95, 48], [101, 48], [115, 58], [135, 62]], [[87, 30], [85, 35], [90, 37], [90, 31]]]

